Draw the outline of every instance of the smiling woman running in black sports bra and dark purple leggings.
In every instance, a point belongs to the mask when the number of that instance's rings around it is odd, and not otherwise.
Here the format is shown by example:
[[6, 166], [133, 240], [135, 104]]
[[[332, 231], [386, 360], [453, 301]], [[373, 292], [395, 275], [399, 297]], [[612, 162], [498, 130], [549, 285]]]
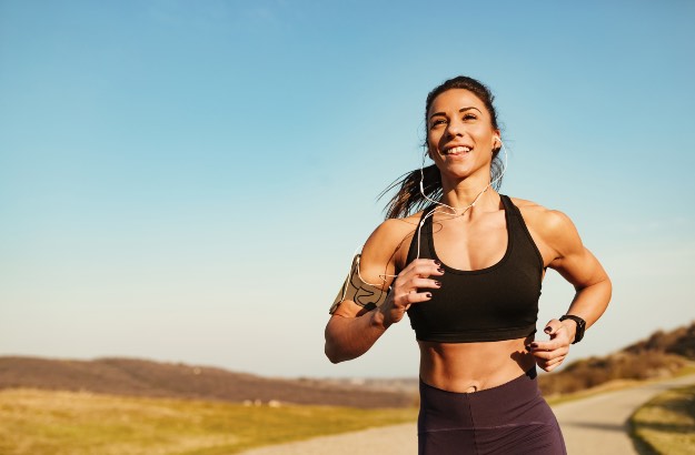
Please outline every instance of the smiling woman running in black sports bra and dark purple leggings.
[[[395, 184], [331, 307], [326, 355], [360, 356], [407, 313], [420, 348], [420, 454], [565, 454], [536, 365], [563, 363], [606, 310], [610, 281], [565, 214], [496, 191], [506, 156], [487, 87], [444, 82], [425, 121], [434, 164]], [[576, 294], [542, 341], [547, 267]]]

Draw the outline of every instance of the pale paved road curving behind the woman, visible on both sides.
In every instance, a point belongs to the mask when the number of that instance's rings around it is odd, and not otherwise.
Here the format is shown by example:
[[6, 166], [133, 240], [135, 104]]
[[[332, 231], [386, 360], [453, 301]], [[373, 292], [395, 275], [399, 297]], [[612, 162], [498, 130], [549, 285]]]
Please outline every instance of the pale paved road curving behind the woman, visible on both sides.
[[[695, 375], [645, 384], [592, 396], [553, 407], [565, 435], [569, 455], [636, 455], [626, 422], [641, 404], [679, 385], [695, 384]], [[262, 447], [244, 455], [414, 455], [417, 454], [415, 424], [370, 428], [322, 436], [310, 441]]]

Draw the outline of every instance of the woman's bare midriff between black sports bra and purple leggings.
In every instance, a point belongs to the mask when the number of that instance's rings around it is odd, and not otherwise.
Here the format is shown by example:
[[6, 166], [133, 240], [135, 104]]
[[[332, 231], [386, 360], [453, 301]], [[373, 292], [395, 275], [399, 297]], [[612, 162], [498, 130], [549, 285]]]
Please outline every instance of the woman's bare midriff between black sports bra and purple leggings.
[[517, 378], [535, 365], [527, 338], [484, 343], [418, 342], [420, 378], [449, 392], [470, 393]]

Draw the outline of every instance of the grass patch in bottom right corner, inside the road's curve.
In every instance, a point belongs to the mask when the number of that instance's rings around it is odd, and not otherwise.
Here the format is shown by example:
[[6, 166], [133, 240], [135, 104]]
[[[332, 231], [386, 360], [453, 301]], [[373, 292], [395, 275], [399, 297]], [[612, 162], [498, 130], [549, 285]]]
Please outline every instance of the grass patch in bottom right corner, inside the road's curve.
[[643, 454], [695, 454], [695, 385], [664, 392], [631, 418]]

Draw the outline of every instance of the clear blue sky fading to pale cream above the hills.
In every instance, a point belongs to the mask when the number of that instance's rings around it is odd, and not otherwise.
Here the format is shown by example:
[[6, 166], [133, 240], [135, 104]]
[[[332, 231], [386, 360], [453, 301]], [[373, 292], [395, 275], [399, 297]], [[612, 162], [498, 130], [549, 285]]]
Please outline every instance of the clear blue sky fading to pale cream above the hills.
[[[416, 376], [407, 321], [340, 365], [322, 331], [457, 74], [496, 94], [502, 192], [567, 213], [613, 279], [570, 358], [689, 323], [693, 23], [686, 0], [0, 0], [0, 355]], [[539, 324], [572, 295], [549, 273]]]

